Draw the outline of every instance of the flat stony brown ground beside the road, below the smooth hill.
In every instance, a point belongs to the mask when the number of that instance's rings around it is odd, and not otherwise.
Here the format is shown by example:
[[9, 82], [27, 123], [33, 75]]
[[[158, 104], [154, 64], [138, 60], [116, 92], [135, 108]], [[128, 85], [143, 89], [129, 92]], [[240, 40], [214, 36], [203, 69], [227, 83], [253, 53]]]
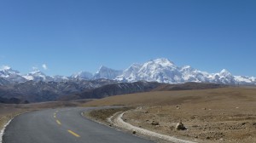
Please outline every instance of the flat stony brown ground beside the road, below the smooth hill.
[[[256, 142], [255, 107], [250, 104], [144, 106], [127, 112], [123, 118], [137, 127], [185, 140], [253, 143]], [[175, 129], [180, 122], [187, 129]]]

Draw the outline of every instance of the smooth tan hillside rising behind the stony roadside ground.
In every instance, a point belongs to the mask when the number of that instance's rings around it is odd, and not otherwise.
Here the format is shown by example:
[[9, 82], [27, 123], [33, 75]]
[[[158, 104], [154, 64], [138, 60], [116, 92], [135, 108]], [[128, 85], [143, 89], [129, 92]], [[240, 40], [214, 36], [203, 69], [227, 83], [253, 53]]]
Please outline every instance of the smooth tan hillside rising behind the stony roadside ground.
[[221, 88], [201, 90], [179, 91], [153, 91], [138, 94], [124, 94], [107, 97], [101, 100], [93, 100], [86, 106], [165, 106], [182, 103], [198, 104], [201, 102], [215, 102], [236, 100], [256, 100], [256, 88]]

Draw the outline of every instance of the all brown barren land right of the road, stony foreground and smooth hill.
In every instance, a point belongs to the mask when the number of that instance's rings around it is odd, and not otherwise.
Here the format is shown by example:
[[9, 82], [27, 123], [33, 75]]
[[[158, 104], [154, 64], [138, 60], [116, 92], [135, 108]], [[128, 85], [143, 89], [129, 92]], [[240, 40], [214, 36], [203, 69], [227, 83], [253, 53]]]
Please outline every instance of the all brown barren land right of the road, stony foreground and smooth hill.
[[[142, 106], [125, 122], [197, 142], [256, 142], [256, 89], [224, 88], [125, 94], [86, 105]], [[153, 121], [160, 125], [152, 125]], [[182, 122], [187, 130], [176, 130]]]

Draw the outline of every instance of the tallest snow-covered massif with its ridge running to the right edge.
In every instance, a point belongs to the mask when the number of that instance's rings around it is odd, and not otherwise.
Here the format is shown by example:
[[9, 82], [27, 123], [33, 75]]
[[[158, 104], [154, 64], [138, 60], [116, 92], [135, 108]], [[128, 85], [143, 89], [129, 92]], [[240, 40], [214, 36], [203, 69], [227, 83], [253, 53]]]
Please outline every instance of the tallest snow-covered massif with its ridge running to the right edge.
[[191, 66], [176, 66], [167, 59], [149, 60], [142, 65], [133, 64], [115, 79], [127, 82], [145, 80], [159, 83], [256, 83], [255, 77], [233, 76], [225, 69], [218, 73], [201, 72]]

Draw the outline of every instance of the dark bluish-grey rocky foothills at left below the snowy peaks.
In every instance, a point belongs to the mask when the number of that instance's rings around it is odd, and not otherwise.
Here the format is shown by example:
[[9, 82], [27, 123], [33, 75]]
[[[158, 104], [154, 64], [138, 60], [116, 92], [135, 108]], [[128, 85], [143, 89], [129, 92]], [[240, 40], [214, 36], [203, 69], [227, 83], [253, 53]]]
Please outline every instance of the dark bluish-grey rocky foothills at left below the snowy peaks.
[[78, 80], [67, 82], [34, 82], [15, 83], [0, 86], [0, 97], [4, 99], [20, 99], [29, 102], [42, 102], [57, 100], [63, 95], [77, 94], [84, 90], [96, 89], [103, 85], [117, 83], [108, 79], [91, 81]]

